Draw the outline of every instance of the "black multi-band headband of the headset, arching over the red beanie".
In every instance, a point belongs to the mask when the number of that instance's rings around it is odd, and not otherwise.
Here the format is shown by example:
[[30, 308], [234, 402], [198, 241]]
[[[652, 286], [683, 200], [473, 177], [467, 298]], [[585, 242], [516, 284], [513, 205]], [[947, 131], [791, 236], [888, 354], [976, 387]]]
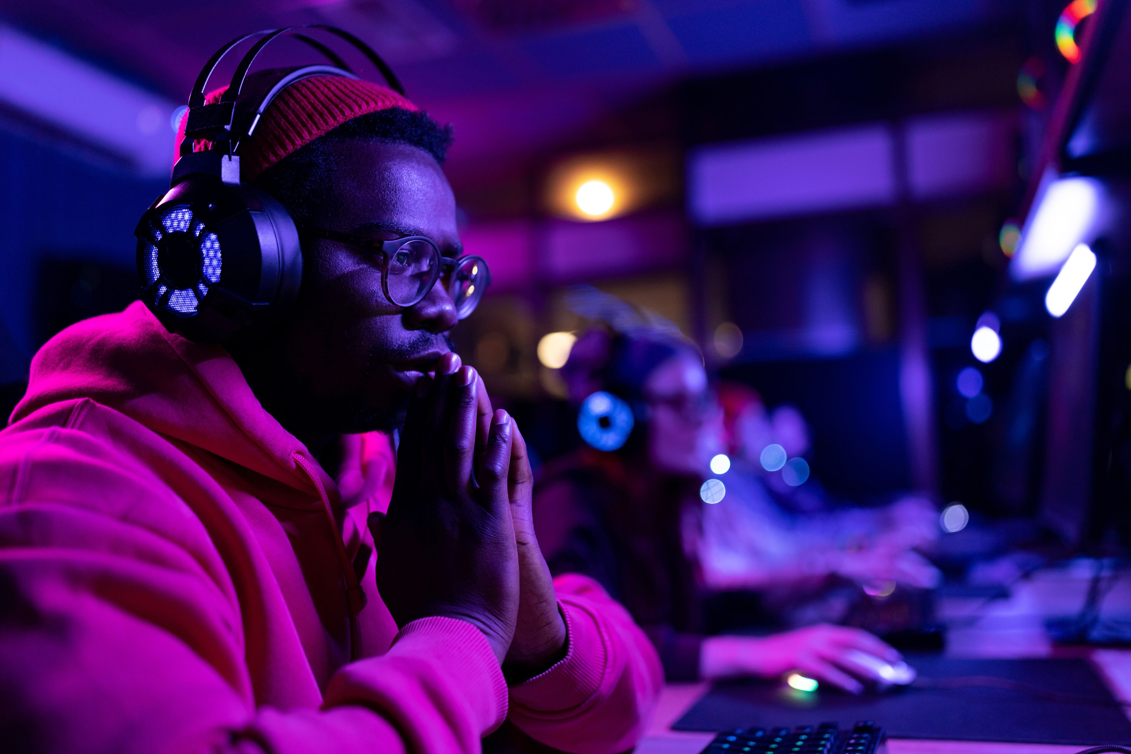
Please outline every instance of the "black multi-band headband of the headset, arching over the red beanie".
[[[368, 44], [344, 29], [335, 26], [327, 26], [325, 24], [305, 24], [302, 26], [288, 26], [286, 28], [267, 29], [262, 32], [254, 32], [252, 34], [245, 34], [232, 40], [217, 50], [200, 70], [200, 75], [197, 77], [197, 81], [192, 86], [192, 94], [189, 96], [189, 113], [188, 120], [184, 124], [184, 139], [181, 141], [179, 148], [182, 157], [192, 154], [192, 144], [197, 139], [208, 139], [214, 144], [226, 141], [226, 150], [228, 154], [232, 154], [233, 148], [238, 147], [243, 138], [250, 136], [251, 131], [254, 130], [256, 125], [259, 123], [259, 115], [261, 115], [264, 110], [267, 109], [270, 101], [274, 99], [286, 86], [301, 78], [317, 75], [346, 76], [349, 78], [356, 78], [356, 75], [345, 64], [340, 57], [334, 53], [333, 50], [327, 47], [321, 42], [300, 33], [301, 29], [305, 28], [319, 28], [345, 40], [360, 50], [362, 54], [364, 54], [369, 61], [373, 63], [373, 66], [381, 72], [381, 76], [385, 77], [386, 83], [388, 83], [392, 90], [400, 95], [405, 94], [405, 89], [400, 86], [400, 81], [392, 72], [392, 69], [389, 68], [383, 60], [381, 60], [380, 55], [373, 52], [372, 47]], [[260, 34], [265, 36], [256, 42], [256, 44], [252, 45], [252, 47], [240, 60], [240, 63], [235, 67], [235, 72], [232, 73], [232, 81], [228, 84], [227, 90], [224, 92], [221, 101], [210, 105], [205, 104], [205, 87], [208, 86], [208, 79], [219, 64], [219, 61], [236, 45]], [[325, 55], [333, 63], [333, 67], [309, 66], [286, 76], [266, 94], [264, 101], [260, 102], [258, 107], [256, 107], [254, 116], [250, 120], [247, 128], [241, 129], [240, 133], [235, 133], [233, 132], [233, 124], [236, 120], [235, 103], [243, 89], [244, 81], [248, 78], [248, 71], [251, 69], [251, 64], [256, 61], [256, 58], [262, 49], [279, 36], [293, 36], [300, 42], [310, 45]]]

